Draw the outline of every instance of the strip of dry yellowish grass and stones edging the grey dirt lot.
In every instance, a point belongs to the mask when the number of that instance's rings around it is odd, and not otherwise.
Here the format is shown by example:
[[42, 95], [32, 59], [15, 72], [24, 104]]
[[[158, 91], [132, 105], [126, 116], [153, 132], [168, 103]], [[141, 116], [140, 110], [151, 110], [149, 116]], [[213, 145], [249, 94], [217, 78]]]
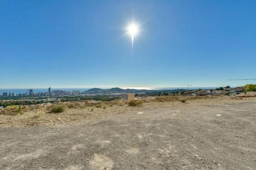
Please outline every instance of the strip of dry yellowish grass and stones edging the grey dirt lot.
[[[195, 100], [201, 99], [201, 101], [191, 101], [188, 102], [187, 105], [198, 105], [201, 107], [202, 103], [214, 104], [219, 102], [226, 102], [227, 100], [232, 99], [233, 102], [239, 102], [242, 100], [253, 100], [256, 101], [256, 98], [239, 98], [239, 97], [230, 97], [230, 96], [186, 96], [179, 98], [185, 98], [187, 100]], [[126, 102], [124, 101], [111, 101], [111, 102], [79, 102], [79, 104], [75, 104], [76, 107], [70, 108], [64, 113], [58, 114], [49, 114], [51, 108], [55, 106], [53, 105], [30, 105], [30, 106], [22, 106], [24, 113], [17, 113], [18, 106], [8, 107], [4, 109], [0, 109], [1, 119], [0, 119], [0, 127], [15, 127], [15, 126], [32, 126], [32, 125], [49, 125], [56, 126], [61, 124], [69, 124], [76, 121], [96, 121], [97, 119], [103, 118], [105, 116], [111, 114], [122, 114], [127, 113], [129, 111], [137, 111], [138, 109], [152, 110], [152, 109], [160, 109], [160, 108], [169, 108], [173, 106], [183, 105], [178, 100], [176, 96], [160, 96], [157, 99], [139, 99], [136, 100], [140, 104], [143, 103], [140, 108], [137, 107], [128, 107]], [[120, 104], [122, 106], [120, 106]], [[58, 105], [68, 105], [68, 102], [62, 102]], [[71, 103], [73, 105], [73, 103]], [[91, 105], [91, 106], [88, 106]], [[102, 105], [102, 108], [95, 108], [96, 105]], [[108, 107], [111, 106], [112, 107]], [[135, 106], [136, 104], [132, 104]], [[105, 106], [106, 109], [103, 109]], [[185, 106], [185, 105], [184, 105]], [[81, 109], [81, 108], [86, 109]]]

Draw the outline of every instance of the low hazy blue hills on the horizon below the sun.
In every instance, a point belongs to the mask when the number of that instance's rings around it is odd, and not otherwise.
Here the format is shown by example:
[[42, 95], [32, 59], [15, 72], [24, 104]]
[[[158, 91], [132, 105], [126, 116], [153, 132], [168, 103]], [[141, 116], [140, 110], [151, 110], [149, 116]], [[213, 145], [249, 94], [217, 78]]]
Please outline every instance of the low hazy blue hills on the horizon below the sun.
[[110, 89], [101, 89], [101, 88], [91, 88], [87, 91], [84, 91], [83, 94], [114, 94], [114, 93], [158, 93], [158, 92], [172, 92], [172, 91], [186, 91], [185, 89], [176, 89], [176, 90], [146, 90], [146, 89], [122, 89], [122, 88], [110, 88]]

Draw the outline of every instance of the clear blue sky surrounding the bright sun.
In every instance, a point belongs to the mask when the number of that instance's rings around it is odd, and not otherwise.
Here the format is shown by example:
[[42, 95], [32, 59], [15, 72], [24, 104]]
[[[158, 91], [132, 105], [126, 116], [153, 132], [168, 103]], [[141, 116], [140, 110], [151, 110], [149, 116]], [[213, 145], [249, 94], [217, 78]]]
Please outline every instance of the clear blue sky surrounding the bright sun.
[[[255, 0], [1, 0], [0, 88], [256, 81]], [[126, 33], [142, 24], [134, 46]]]

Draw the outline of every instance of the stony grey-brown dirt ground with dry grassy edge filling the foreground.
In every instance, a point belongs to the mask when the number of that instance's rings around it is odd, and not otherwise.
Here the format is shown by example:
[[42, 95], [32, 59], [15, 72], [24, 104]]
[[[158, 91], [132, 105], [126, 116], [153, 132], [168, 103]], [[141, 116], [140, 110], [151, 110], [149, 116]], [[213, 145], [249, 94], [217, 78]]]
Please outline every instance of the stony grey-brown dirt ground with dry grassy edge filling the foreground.
[[256, 170], [256, 98], [0, 115], [0, 170]]

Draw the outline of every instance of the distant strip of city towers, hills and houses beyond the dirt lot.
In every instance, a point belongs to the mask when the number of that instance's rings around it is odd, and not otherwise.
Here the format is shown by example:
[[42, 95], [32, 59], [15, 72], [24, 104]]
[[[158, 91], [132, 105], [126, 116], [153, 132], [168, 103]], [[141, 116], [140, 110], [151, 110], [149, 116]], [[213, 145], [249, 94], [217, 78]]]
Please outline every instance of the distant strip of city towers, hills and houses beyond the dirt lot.
[[[36, 105], [53, 102], [83, 102], [88, 100], [111, 101], [121, 99], [122, 94], [134, 94], [137, 99], [154, 97], [154, 96], [205, 96], [205, 95], [229, 95], [244, 96], [256, 95], [256, 85], [246, 85], [242, 87], [219, 87], [215, 89], [174, 89], [174, 90], [145, 90], [145, 89], [122, 89], [122, 88], [91, 88], [87, 91], [79, 90], [64, 91], [53, 90], [48, 88], [46, 92], [34, 93], [33, 89], [29, 89], [29, 93], [15, 94], [3, 92], [0, 95], [0, 108], [10, 105]], [[249, 89], [249, 90], [248, 90]]]

